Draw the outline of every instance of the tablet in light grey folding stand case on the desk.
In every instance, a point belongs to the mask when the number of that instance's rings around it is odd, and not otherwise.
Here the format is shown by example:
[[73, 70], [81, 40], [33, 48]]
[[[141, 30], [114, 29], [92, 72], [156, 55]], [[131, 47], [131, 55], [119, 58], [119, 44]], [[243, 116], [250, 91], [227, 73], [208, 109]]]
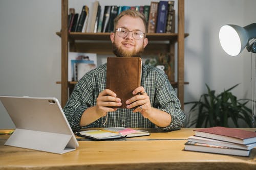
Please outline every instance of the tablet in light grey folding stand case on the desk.
[[78, 142], [56, 98], [0, 96], [15, 131], [5, 145], [63, 154]]

